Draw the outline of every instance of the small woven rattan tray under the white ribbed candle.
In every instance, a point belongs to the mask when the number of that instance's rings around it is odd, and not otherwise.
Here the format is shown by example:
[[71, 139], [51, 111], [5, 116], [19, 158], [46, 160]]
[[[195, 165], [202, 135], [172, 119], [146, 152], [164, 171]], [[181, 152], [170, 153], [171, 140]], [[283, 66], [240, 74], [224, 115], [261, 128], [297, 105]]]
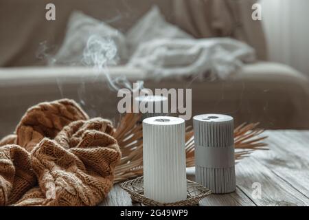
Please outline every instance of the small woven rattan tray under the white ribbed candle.
[[125, 181], [120, 186], [130, 194], [133, 201], [145, 206], [197, 206], [201, 199], [211, 194], [209, 188], [187, 179], [187, 199], [174, 203], [160, 203], [144, 196], [144, 178], [142, 176]]

